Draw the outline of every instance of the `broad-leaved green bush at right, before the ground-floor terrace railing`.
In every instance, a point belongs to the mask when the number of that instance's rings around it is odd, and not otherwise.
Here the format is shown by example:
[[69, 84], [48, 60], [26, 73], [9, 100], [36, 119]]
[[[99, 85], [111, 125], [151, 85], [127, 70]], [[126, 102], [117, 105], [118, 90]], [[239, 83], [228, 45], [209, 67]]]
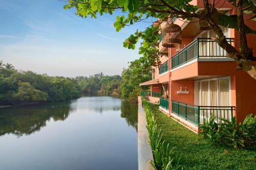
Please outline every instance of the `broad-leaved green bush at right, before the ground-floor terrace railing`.
[[220, 118], [220, 124], [215, 122], [216, 117], [211, 115], [209, 123], [204, 119], [200, 125], [203, 137], [210, 139], [214, 144], [224, 144], [233, 148], [253, 148], [255, 147], [256, 135], [256, 116], [249, 114], [243, 123], [236, 124], [236, 117], [231, 121]]

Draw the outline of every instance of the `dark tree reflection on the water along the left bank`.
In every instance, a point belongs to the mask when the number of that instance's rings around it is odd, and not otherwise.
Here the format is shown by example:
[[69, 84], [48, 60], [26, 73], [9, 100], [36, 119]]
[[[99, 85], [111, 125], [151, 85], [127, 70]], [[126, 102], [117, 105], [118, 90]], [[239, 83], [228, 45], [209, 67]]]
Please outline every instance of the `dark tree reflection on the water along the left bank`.
[[46, 126], [47, 120], [65, 120], [71, 111], [70, 103], [55, 105], [20, 106], [2, 109], [0, 113], [0, 135], [29, 135]]

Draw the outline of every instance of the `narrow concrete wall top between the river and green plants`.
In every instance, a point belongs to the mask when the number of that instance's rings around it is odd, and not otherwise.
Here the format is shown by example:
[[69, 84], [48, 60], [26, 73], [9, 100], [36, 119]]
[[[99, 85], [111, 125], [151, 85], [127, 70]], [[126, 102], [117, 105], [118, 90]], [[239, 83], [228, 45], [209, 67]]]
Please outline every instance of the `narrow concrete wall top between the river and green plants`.
[[146, 116], [142, 108], [141, 98], [138, 98], [138, 169], [154, 169], [148, 160], [154, 160], [150, 143], [148, 143], [148, 131], [146, 129]]

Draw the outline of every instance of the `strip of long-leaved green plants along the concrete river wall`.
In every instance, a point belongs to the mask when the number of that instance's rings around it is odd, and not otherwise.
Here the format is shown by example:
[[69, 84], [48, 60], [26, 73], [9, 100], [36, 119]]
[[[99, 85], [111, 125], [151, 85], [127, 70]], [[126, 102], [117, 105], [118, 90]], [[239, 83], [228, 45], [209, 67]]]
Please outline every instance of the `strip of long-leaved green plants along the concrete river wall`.
[[150, 160], [155, 169], [179, 169], [179, 161], [175, 162], [174, 148], [170, 147], [170, 144], [163, 140], [161, 128], [156, 123], [155, 115], [151, 106], [143, 99], [143, 108], [146, 113], [147, 125], [146, 128], [149, 134], [149, 141], [153, 151], [154, 161]]

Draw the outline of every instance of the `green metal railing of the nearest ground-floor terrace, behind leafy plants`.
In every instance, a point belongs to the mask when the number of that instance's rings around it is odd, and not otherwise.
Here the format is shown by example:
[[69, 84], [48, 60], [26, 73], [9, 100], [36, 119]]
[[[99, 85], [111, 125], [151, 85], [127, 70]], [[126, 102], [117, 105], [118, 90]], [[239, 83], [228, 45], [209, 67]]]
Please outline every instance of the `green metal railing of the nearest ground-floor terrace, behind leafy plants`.
[[220, 123], [220, 118], [232, 120], [234, 110], [234, 106], [188, 106], [186, 103], [172, 101], [172, 113], [197, 125], [202, 124], [204, 118], [208, 122], [211, 114], [216, 116], [216, 123]]

